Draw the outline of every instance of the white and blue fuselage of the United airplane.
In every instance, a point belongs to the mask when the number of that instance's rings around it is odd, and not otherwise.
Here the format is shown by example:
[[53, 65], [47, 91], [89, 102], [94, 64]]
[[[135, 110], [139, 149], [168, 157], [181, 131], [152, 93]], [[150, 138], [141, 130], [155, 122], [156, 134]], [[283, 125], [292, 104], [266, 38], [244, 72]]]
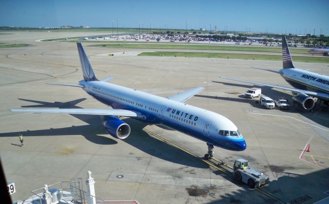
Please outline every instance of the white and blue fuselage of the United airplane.
[[[227, 150], [246, 149], [237, 127], [222, 115], [107, 82], [81, 80], [79, 84], [90, 96], [106, 105], [139, 112], [142, 118], [138, 120], [145, 123], [164, 125]], [[224, 136], [227, 132], [229, 136]]]

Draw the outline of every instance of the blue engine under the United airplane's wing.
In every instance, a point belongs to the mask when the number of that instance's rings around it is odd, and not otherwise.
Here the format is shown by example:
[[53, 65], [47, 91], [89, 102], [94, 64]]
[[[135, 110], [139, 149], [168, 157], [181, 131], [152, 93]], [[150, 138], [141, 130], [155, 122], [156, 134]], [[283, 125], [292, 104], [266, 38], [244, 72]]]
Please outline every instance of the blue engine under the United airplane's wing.
[[123, 122], [115, 116], [107, 116], [103, 122], [106, 132], [116, 138], [125, 139], [130, 134], [129, 124]]

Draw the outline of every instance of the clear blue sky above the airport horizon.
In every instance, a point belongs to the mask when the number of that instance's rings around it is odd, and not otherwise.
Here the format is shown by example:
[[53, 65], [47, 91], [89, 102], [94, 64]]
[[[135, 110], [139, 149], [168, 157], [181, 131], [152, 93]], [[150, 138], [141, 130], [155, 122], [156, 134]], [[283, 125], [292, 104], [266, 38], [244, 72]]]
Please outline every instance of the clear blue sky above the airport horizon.
[[0, 0], [0, 26], [150, 27], [329, 35], [329, 1]]

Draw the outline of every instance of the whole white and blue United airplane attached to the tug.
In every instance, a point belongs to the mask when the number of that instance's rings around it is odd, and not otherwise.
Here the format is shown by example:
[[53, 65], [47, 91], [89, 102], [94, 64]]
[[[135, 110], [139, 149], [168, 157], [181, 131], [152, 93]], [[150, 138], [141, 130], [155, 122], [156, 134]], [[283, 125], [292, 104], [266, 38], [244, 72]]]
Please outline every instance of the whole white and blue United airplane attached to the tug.
[[197, 87], [180, 94], [162, 98], [132, 88], [119, 86], [107, 81], [113, 78], [98, 80], [81, 45], [77, 43], [83, 72], [79, 84], [54, 85], [80, 87], [98, 101], [112, 106], [110, 108], [20, 108], [10, 109], [12, 112], [58, 113], [100, 115], [107, 133], [119, 139], [129, 136], [129, 124], [118, 117], [130, 117], [147, 124], [156, 124], [175, 129], [197, 139], [207, 142], [208, 153], [205, 159], [213, 157], [214, 146], [231, 151], [243, 151], [246, 142], [237, 127], [226, 117], [185, 104], [184, 102], [202, 91]]

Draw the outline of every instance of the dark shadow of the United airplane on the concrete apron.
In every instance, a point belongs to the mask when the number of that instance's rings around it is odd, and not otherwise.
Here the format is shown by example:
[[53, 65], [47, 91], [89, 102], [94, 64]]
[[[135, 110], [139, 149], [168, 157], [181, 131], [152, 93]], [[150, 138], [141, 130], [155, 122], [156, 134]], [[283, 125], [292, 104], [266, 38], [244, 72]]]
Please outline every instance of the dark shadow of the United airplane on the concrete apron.
[[[28, 101], [33, 103], [39, 103], [38, 105], [26, 105], [22, 107], [57, 107], [57, 108], [81, 108], [76, 106], [76, 104], [86, 100], [85, 98], [69, 101], [69, 102], [44, 102], [44, 101], [35, 101], [28, 99], [20, 99], [22, 101]], [[105, 131], [104, 126], [102, 125], [102, 119], [99, 116], [95, 115], [75, 115], [70, 114], [73, 117], [76, 117], [86, 123], [87, 125], [80, 126], [70, 126], [62, 128], [49, 128], [49, 129], [40, 129], [35, 131], [25, 131], [25, 132], [11, 132], [11, 133], [0, 133], [0, 137], [17, 137], [19, 134], [23, 134], [24, 137], [29, 136], [65, 136], [65, 135], [82, 135], [88, 141], [102, 144], [102, 145], [112, 145], [117, 144], [118, 142], [109, 137], [104, 137], [100, 135], [108, 135]], [[200, 161], [198, 158], [187, 154], [186, 152], [176, 149], [175, 147], [162, 142], [148, 133], [142, 131], [142, 129], [147, 126], [147, 124], [140, 122], [132, 118], [123, 119], [126, 123], [131, 126], [131, 134], [126, 139], [122, 140], [127, 144], [130, 144], [137, 149], [157, 157], [159, 159], [167, 160], [173, 163], [178, 163], [186, 166], [191, 166], [195, 168], [209, 168], [207, 164]], [[99, 135], [100, 134], [100, 135]]]

